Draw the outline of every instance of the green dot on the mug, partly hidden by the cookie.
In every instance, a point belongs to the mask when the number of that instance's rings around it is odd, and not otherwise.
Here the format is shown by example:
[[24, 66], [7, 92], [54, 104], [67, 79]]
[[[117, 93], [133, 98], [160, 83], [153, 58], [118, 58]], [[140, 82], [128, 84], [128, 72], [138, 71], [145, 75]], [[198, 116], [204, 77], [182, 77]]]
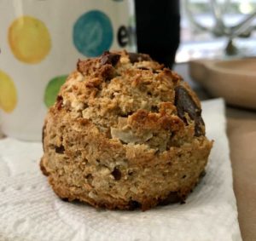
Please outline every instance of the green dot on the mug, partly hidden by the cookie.
[[61, 85], [65, 83], [67, 75], [62, 75], [52, 78], [46, 86], [44, 91], [44, 104], [48, 108], [53, 106], [57, 95], [61, 89]]

